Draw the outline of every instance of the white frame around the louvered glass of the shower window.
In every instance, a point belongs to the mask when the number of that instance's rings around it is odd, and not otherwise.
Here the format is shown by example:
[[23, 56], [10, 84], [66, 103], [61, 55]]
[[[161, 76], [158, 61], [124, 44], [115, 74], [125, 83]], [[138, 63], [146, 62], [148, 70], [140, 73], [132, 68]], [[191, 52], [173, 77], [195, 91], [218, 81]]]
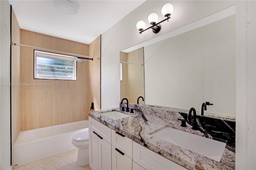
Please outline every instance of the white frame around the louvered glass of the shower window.
[[[37, 73], [36, 73], [36, 55], [43, 55], [45, 58], [50, 58], [50, 59], [58, 59], [58, 60], [65, 60], [65, 61], [73, 61], [73, 79], [54, 79], [54, 78], [38, 78], [36, 77]], [[76, 77], [77, 77], [77, 66], [76, 66], [76, 60], [73, 59], [72, 55], [66, 55], [66, 54], [60, 54], [60, 53], [54, 53], [54, 52], [50, 52], [50, 51], [40, 51], [37, 49], [34, 49], [34, 79], [42, 79], [42, 80], [71, 80], [71, 81], [76, 81]]]

